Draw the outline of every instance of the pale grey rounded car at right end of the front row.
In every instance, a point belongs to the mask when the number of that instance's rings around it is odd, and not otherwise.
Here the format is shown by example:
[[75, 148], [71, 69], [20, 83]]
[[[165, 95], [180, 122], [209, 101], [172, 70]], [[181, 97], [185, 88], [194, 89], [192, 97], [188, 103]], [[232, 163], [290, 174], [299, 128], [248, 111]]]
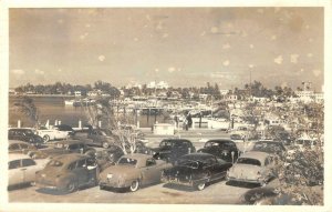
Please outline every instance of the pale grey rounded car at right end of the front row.
[[227, 181], [266, 185], [274, 178], [274, 157], [266, 152], [250, 151], [240, 155], [227, 172]]

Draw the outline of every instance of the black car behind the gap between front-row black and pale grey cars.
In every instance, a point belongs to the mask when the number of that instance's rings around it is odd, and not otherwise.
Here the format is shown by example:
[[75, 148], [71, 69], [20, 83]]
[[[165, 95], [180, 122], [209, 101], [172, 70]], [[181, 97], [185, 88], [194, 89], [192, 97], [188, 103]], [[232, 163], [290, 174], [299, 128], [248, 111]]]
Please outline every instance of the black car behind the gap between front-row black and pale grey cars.
[[235, 162], [240, 153], [236, 143], [229, 139], [209, 140], [197, 152], [210, 153], [227, 162]]

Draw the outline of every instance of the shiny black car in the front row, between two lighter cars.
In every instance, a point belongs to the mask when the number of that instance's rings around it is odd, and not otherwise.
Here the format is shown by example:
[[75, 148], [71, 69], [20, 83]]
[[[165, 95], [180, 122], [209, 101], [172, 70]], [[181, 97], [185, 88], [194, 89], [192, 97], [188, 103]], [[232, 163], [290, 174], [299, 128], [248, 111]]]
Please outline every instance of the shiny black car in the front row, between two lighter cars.
[[163, 172], [162, 181], [184, 184], [199, 191], [206, 183], [224, 179], [232, 164], [208, 153], [191, 153], [179, 158], [176, 164]]

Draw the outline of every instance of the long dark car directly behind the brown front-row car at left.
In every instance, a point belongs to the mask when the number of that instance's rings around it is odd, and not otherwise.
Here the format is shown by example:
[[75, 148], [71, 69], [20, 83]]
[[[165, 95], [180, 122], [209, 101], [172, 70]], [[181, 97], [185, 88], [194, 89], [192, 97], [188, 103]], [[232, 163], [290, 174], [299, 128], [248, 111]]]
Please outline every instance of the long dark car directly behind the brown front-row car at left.
[[95, 152], [94, 148], [87, 147], [83, 141], [65, 140], [56, 142], [53, 148], [30, 151], [29, 155], [31, 158], [45, 158], [45, 155], [52, 158], [60, 154], [81, 153], [94, 157]]

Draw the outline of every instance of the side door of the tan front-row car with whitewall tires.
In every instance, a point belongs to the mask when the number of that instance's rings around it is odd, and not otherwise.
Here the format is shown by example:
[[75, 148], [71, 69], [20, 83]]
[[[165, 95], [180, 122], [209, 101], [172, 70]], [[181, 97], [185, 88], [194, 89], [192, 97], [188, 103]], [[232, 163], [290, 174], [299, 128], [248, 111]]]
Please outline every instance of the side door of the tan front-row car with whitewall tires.
[[149, 184], [160, 181], [160, 169], [157, 168], [155, 159], [149, 158], [145, 162], [145, 166], [142, 169], [142, 183]]

